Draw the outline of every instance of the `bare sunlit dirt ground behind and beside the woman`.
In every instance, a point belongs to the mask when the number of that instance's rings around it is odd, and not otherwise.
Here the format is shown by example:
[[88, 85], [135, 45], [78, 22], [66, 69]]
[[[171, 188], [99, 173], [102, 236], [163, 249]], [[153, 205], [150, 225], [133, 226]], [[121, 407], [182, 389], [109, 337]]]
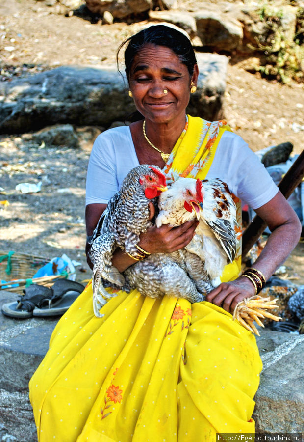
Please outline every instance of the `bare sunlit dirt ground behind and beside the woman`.
[[[50, 13], [44, 2], [2, 0], [0, 66], [9, 75], [61, 65], [99, 67], [115, 63], [122, 40], [145, 23], [92, 24], [84, 17]], [[230, 60], [224, 100], [228, 123], [256, 151], [290, 141], [293, 154], [304, 146], [304, 91], [297, 83], [269, 82]], [[47, 258], [66, 253], [80, 262], [77, 280], [91, 272], [84, 254], [86, 168], [93, 139], [80, 148], [39, 148], [16, 136], [0, 137], [0, 249]], [[42, 180], [39, 193], [20, 193], [19, 183]], [[3, 204], [7, 201], [8, 204]], [[304, 245], [287, 261], [288, 276], [304, 284]], [[26, 275], [31, 276], [31, 275]]]

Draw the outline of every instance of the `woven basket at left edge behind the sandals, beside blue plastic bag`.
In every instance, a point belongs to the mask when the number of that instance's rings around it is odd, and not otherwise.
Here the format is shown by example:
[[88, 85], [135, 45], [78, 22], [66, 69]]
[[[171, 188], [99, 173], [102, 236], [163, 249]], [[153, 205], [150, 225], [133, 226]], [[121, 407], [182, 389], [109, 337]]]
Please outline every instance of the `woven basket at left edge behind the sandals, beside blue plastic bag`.
[[[31, 280], [36, 284], [49, 286], [54, 282], [54, 279], [65, 277], [52, 275], [31, 279], [38, 269], [50, 261], [50, 259], [41, 256], [0, 250], [0, 261], [0, 280], [6, 281], [5, 283], [0, 282], [0, 290], [22, 292]], [[16, 284], [18, 285], [16, 286]]]

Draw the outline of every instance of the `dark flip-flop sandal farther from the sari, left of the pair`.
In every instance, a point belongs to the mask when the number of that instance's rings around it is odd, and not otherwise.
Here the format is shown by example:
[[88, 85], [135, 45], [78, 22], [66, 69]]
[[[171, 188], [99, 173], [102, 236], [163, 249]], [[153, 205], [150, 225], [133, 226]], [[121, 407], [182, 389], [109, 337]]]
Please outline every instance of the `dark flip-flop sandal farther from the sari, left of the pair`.
[[53, 297], [53, 291], [43, 285], [31, 284], [24, 290], [25, 295], [17, 302], [3, 304], [1, 311], [3, 315], [11, 318], [31, 318], [35, 307], [49, 303]]

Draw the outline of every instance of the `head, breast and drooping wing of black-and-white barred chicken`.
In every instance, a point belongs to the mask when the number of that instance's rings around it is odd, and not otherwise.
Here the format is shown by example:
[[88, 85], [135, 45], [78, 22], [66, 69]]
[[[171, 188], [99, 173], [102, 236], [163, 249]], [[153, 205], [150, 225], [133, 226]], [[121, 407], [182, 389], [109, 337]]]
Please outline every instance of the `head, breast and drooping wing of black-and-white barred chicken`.
[[112, 256], [118, 247], [135, 255], [139, 235], [152, 226], [149, 204], [157, 205], [157, 196], [166, 190], [166, 177], [157, 166], [141, 165], [132, 169], [120, 190], [110, 199], [91, 239], [90, 259], [93, 268], [93, 307], [96, 316], [110, 295], [101, 278], [111, 285], [125, 285], [124, 276], [112, 266]]

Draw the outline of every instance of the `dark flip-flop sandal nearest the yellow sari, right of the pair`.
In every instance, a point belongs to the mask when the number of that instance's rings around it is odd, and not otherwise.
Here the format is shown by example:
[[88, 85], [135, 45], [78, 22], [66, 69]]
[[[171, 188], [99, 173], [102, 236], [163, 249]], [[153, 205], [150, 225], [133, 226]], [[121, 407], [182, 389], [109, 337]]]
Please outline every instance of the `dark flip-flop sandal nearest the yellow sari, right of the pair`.
[[51, 287], [53, 295], [33, 310], [33, 316], [63, 315], [84, 290], [84, 285], [70, 279], [57, 279]]

